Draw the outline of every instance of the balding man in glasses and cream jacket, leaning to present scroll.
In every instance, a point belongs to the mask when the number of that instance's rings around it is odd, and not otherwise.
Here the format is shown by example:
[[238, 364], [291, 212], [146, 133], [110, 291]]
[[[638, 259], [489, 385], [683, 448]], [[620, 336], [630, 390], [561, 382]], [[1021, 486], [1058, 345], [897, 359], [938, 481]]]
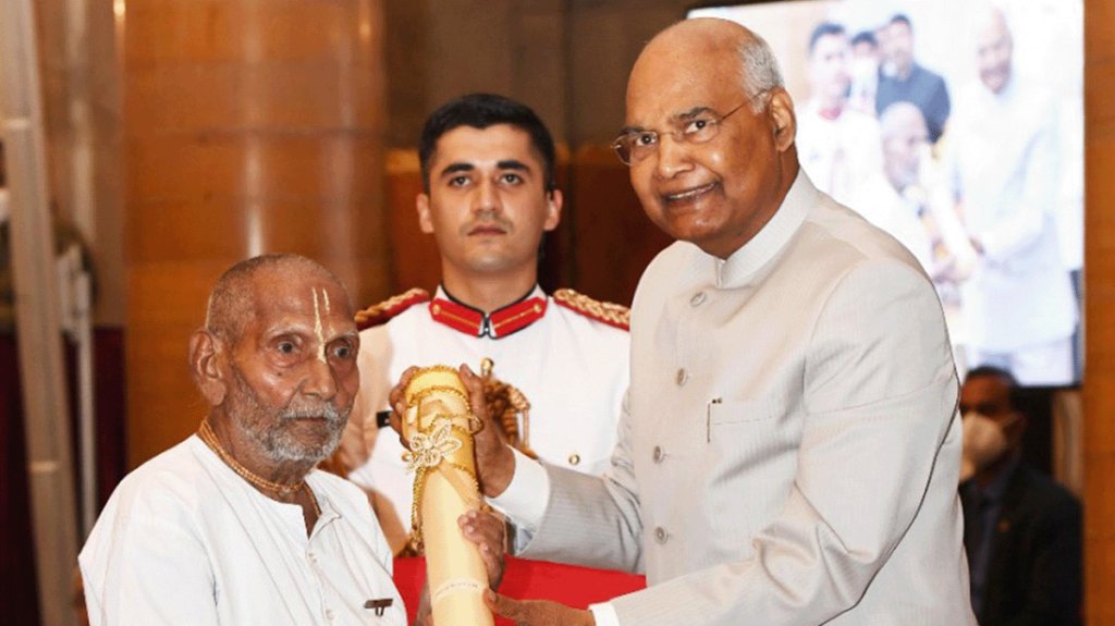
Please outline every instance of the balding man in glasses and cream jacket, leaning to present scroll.
[[682, 241], [636, 294], [612, 467], [542, 466], [483, 431], [477, 458], [485, 493], [535, 530], [524, 555], [646, 568], [648, 588], [591, 612], [495, 609], [532, 625], [973, 625], [958, 383], [917, 260], [801, 173], [777, 65], [738, 25], [656, 37], [627, 118], [617, 151]]

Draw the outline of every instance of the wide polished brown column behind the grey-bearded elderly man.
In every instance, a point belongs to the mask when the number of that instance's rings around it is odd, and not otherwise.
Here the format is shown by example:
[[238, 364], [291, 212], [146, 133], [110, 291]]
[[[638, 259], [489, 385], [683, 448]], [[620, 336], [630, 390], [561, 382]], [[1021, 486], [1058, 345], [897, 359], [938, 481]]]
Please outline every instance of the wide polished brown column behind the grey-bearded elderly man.
[[388, 292], [379, 0], [139, 0], [124, 25], [128, 461], [194, 430], [216, 277], [297, 252]]

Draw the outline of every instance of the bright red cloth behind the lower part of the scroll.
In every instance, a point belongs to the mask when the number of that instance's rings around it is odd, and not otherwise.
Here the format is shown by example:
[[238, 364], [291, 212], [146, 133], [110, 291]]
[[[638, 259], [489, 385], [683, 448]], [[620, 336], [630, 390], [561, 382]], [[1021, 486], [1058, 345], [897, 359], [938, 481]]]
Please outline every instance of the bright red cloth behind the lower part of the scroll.
[[[407, 618], [410, 622], [414, 622], [418, 610], [418, 597], [425, 581], [426, 559], [395, 559], [395, 585], [407, 606]], [[507, 557], [500, 593], [512, 598], [554, 600], [576, 608], [588, 608], [590, 604], [637, 591], [646, 586], [647, 579], [643, 576], [624, 571]], [[502, 618], [496, 618], [495, 623], [512, 626], [511, 622]]]

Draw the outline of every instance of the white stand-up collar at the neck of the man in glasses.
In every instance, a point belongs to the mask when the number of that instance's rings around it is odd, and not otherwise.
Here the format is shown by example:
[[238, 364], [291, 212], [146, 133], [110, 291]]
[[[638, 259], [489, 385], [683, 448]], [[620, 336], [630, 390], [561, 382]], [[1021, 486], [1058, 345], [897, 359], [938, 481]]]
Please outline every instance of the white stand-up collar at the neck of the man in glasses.
[[710, 257], [716, 264], [716, 286], [731, 288], [747, 284], [748, 278], [794, 236], [809, 208], [816, 204], [818, 194], [805, 170], [799, 169], [782, 206], [763, 229], [728, 258]]

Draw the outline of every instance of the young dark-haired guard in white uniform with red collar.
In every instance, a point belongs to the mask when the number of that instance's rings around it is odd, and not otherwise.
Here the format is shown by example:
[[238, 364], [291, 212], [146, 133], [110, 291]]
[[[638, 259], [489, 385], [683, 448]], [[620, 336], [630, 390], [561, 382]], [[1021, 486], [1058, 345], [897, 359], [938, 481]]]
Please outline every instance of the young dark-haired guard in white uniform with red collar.
[[349, 479], [371, 495], [396, 551], [409, 536], [414, 477], [377, 414], [404, 370], [469, 365], [486, 376], [508, 441], [590, 473], [608, 467], [628, 384], [628, 310], [537, 285], [539, 245], [562, 195], [535, 114], [500, 96], [458, 98], [427, 120], [419, 153], [418, 221], [437, 242], [442, 285], [433, 299], [415, 288], [357, 314], [361, 385], [343, 443]]

